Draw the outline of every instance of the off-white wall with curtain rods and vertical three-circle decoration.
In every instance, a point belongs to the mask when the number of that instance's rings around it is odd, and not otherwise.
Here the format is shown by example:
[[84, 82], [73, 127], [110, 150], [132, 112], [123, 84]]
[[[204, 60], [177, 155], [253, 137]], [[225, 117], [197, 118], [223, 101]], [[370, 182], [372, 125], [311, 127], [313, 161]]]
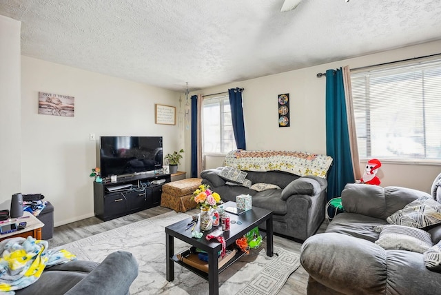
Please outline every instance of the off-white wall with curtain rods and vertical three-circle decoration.
[[[274, 74], [236, 83], [220, 85], [197, 93], [212, 94], [229, 88], [243, 87], [243, 108], [247, 150], [296, 150], [326, 153], [325, 86], [326, 78], [317, 78], [318, 72], [349, 65], [366, 65], [421, 57], [440, 53], [441, 41], [380, 52], [365, 57], [327, 63], [301, 70]], [[289, 128], [278, 127], [278, 94], [289, 93]], [[441, 134], [441, 128], [440, 128]], [[441, 135], [440, 135], [441, 136]], [[381, 159], [380, 159], [381, 160]], [[211, 161], [217, 165], [217, 161]], [[362, 163], [362, 167], [365, 163]], [[210, 165], [205, 166], [212, 168]], [[214, 167], [214, 166], [213, 166]], [[382, 186], [400, 185], [425, 192], [430, 191], [441, 165], [400, 165], [383, 163], [378, 173]]]

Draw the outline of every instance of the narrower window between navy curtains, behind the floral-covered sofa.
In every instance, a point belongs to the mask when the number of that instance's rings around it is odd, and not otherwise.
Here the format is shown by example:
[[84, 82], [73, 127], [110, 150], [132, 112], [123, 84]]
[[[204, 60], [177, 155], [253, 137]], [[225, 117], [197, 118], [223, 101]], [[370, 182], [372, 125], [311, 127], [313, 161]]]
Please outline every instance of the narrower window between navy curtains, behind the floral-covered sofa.
[[203, 100], [203, 153], [227, 154], [236, 149], [228, 95]]

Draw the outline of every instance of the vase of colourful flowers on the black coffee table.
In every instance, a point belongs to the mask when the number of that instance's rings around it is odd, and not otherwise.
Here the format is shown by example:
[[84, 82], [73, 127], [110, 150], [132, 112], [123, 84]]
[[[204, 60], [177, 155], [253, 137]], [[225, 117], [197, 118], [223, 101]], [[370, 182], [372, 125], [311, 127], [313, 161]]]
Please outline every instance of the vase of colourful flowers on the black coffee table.
[[213, 209], [223, 203], [217, 192], [212, 192], [209, 185], [199, 185], [193, 193], [197, 207], [201, 209], [201, 231], [211, 230], [213, 227]]

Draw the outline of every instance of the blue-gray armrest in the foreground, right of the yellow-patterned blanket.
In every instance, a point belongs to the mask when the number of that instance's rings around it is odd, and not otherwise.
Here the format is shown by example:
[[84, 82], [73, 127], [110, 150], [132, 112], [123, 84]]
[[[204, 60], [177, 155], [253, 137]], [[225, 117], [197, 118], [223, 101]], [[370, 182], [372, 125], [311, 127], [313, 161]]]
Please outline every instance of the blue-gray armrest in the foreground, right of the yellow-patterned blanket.
[[136, 276], [138, 276], [138, 263], [132, 253], [116, 251], [109, 254], [100, 265], [66, 294], [127, 294]]

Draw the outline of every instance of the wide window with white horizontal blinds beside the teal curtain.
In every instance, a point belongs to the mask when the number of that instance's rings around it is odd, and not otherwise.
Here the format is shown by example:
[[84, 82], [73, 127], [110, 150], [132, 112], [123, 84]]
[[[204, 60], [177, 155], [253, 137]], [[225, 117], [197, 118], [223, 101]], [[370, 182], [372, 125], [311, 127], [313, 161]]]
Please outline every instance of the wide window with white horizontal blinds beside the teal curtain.
[[351, 74], [360, 158], [441, 160], [441, 61]]

